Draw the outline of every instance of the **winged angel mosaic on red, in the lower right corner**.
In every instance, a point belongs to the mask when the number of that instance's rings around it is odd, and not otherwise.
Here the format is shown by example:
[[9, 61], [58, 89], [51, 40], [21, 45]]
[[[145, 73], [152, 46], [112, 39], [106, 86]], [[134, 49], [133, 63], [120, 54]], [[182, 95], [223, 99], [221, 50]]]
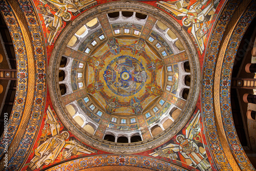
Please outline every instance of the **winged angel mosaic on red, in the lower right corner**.
[[153, 157], [161, 156], [171, 160], [180, 159], [181, 161], [183, 157], [185, 159], [184, 161], [191, 166], [198, 167], [202, 171], [211, 170], [210, 163], [207, 161], [207, 157], [205, 157], [205, 149], [198, 145], [201, 140], [201, 136], [199, 135], [201, 132], [200, 115], [200, 111], [198, 110], [195, 118], [185, 130], [185, 137], [182, 134], [177, 135], [176, 142], [178, 144], [164, 144], [149, 155]]

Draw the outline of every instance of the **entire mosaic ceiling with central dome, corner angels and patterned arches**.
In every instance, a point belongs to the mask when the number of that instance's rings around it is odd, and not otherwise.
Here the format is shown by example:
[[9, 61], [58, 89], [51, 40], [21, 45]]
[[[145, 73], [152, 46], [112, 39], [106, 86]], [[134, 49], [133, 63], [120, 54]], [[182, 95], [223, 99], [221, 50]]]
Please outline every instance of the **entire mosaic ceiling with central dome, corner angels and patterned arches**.
[[[231, 66], [236, 52], [227, 44], [240, 40], [229, 35], [243, 36], [255, 2], [69, 2], [1, 2], [19, 65], [10, 136], [0, 144], [10, 158], [0, 169], [254, 170], [226, 130], [234, 126], [229, 96], [218, 101], [213, 87], [230, 88], [216, 61]], [[220, 47], [232, 56], [222, 60]], [[110, 142], [108, 134], [142, 140]]]

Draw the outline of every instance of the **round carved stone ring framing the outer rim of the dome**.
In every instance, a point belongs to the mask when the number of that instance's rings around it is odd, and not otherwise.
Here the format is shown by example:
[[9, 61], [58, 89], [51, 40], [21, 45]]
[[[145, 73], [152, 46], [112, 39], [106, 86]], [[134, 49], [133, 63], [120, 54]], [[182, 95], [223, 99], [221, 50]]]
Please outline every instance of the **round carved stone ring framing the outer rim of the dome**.
[[[111, 7], [111, 8], [108, 8]], [[89, 22], [91, 19], [95, 17], [102, 16], [103, 14], [109, 13], [109, 12], [115, 12], [119, 11], [120, 8], [129, 10], [129, 11], [135, 11], [135, 12], [143, 12], [146, 15], [154, 16], [156, 19], [161, 20], [162, 23], [164, 23], [167, 27], [169, 27], [171, 30], [173, 30], [178, 38], [182, 41], [182, 44], [185, 48], [185, 51], [187, 52], [187, 57], [190, 60], [191, 65], [191, 89], [189, 91], [189, 97], [187, 99], [187, 102], [184, 106], [184, 109], [182, 111], [182, 114], [179, 116], [179, 118], [172, 124], [171, 127], [169, 127], [167, 130], [165, 130], [163, 133], [157, 135], [154, 138], [148, 139], [146, 141], [142, 141], [140, 143], [133, 143], [129, 146], [123, 146], [123, 144], [119, 143], [112, 143], [108, 141], [104, 141], [102, 139], [98, 139], [95, 136], [92, 136], [91, 134], [88, 134], [86, 131], [83, 131], [79, 128], [79, 126], [73, 122], [73, 119], [70, 118], [71, 116], [68, 114], [68, 111], [66, 110], [65, 106], [61, 103], [61, 95], [58, 91], [57, 86], [57, 78], [55, 77], [56, 72], [58, 70], [54, 67], [56, 63], [59, 63], [60, 56], [63, 52], [63, 49], [65, 49], [67, 42], [65, 42], [65, 39], [69, 39], [73, 36], [73, 34], [83, 25], [83, 23]], [[104, 11], [103, 11], [104, 10]], [[94, 14], [93, 16], [91, 14]], [[161, 16], [161, 17], [159, 17]], [[145, 151], [149, 148], [155, 147], [157, 145], [161, 145], [162, 143], [166, 142], [168, 139], [172, 138], [176, 131], [179, 131], [182, 129], [183, 125], [186, 123], [186, 121], [190, 118], [190, 115], [193, 113], [193, 110], [196, 106], [197, 99], [199, 96], [200, 91], [200, 82], [198, 79], [200, 78], [200, 68], [197, 66], [199, 65], [199, 58], [197, 51], [194, 47], [187, 47], [188, 45], [194, 45], [193, 41], [190, 39], [189, 35], [180, 27], [180, 25], [171, 17], [169, 17], [168, 14], [156, 10], [152, 6], [148, 6], [143, 3], [136, 3], [136, 2], [114, 2], [114, 3], [106, 3], [103, 5], [97, 6], [97, 8], [92, 8], [88, 10], [87, 12], [79, 15], [74, 21], [79, 22], [73, 22], [72, 25], [66, 26], [65, 30], [61, 32], [58, 39], [58, 46], [56, 46], [52, 52], [52, 57], [50, 58], [49, 62], [49, 75], [50, 80], [49, 81], [49, 91], [51, 94], [51, 99], [55, 106], [55, 111], [60, 117], [63, 124], [65, 124], [67, 127], [71, 128], [71, 131], [74, 135], [76, 135], [81, 141], [88, 143], [90, 145], [93, 145], [94, 147], [98, 147], [104, 151], [108, 152], [121, 152], [121, 153], [134, 153], [134, 152], [141, 152]], [[179, 35], [177, 33], [177, 30], [180, 31]], [[66, 37], [66, 38], [64, 38]], [[63, 40], [63, 41], [62, 41]], [[61, 115], [60, 115], [61, 114]], [[76, 129], [73, 129], [74, 125], [77, 125]], [[176, 131], [173, 131], [176, 130]]]

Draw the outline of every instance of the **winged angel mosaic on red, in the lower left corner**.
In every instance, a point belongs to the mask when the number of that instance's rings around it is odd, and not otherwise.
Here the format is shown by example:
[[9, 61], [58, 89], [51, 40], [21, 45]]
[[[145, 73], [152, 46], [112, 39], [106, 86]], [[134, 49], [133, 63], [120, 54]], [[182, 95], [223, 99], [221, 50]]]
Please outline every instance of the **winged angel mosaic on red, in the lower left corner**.
[[50, 105], [47, 109], [47, 118], [38, 144], [29, 164], [31, 170], [49, 165], [57, 159], [62, 160], [75, 155], [96, 152], [95, 149], [82, 144], [75, 137], [70, 137], [69, 132], [60, 131], [60, 124], [55, 118]]

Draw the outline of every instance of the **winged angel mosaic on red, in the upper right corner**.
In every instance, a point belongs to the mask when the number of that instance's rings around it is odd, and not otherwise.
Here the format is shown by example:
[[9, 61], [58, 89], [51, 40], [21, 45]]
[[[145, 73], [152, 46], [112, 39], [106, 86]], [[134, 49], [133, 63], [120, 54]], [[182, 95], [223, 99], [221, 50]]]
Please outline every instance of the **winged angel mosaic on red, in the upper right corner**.
[[180, 0], [173, 2], [157, 3], [158, 7], [164, 9], [179, 20], [182, 19], [182, 25], [189, 28], [190, 35], [198, 45], [202, 54], [205, 47], [205, 35], [209, 30], [209, 22], [215, 12], [215, 7], [219, 4], [219, 0], [199, 0], [194, 3], [193, 0]]

